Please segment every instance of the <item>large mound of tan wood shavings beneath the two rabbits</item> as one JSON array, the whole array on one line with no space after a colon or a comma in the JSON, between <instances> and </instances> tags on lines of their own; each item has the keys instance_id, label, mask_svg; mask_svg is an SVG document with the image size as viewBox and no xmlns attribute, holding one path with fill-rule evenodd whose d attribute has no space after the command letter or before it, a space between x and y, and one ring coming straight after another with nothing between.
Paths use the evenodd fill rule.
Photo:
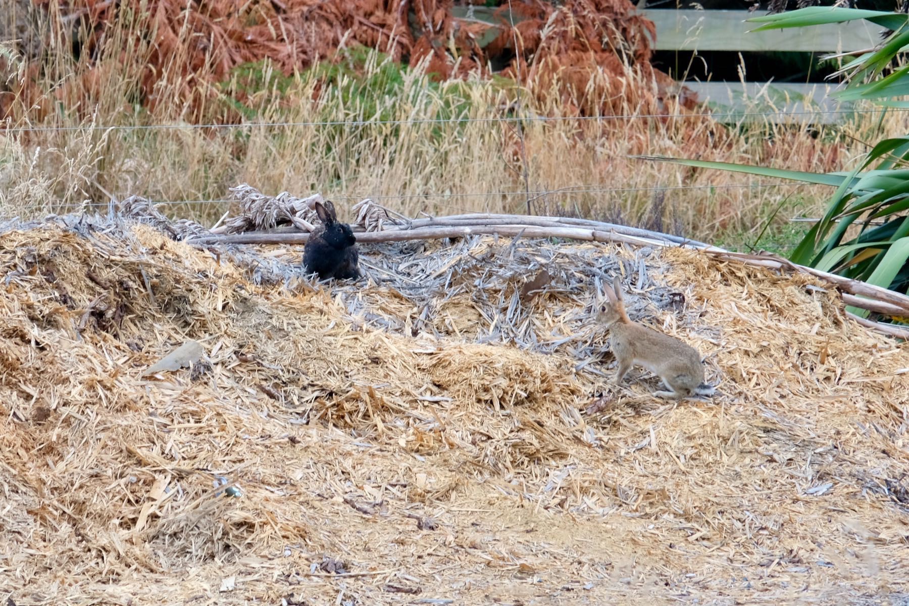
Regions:
<instances>
[{"instance_id":1,"label":"large mound of tan wood shavings beneath the two rabbits","mask_svg":"<svg viewBox=\"0 0 909 606\"><path fill-rule=\"evenodd\" d=\"M368 283L308 283L299 257L101 218L5 225L0 599L906 591L909 356L824 284L493 238L364 247ZM704 353L714 401L654 400L639 370L612 385L591 303L616 274L632 317ZM189 341L198 363L141 376Z\"/></svg>"}]
</instances>

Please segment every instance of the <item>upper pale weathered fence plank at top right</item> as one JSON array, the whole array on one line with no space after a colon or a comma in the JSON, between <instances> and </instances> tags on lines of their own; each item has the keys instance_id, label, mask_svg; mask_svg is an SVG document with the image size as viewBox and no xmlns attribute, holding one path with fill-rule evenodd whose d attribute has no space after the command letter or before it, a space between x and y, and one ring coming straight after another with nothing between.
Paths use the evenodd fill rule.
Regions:
<instances>
[{"instance_id":1,"label":"upper pale weathered fence plank at top right","mask_svg":"<svg viewBox=\"0 0 909 606\"><path fill-rule=\"evenodd\" d=\"M750 32L760 24L746 23L748 11L644 9L656 25L659 51L858 51L880 40L879 25L866 21Z\"/></svg>"}]
</instances>

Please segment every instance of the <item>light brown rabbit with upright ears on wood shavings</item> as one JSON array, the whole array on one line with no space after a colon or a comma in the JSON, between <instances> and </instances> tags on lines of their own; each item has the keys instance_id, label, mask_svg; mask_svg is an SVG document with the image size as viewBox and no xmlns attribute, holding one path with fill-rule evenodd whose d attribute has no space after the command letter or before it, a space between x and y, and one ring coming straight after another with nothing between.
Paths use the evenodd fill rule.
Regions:
<instances>
[{"instance_id":1,"label":"light brown rabbit with upright ears on wood shavings","mask_svg":"<svg viewBox=\"0 0 909 606\"><path fill-rule=\"evenodd\" d=\"M632 322L624 310L621 286L606 286L605 293L597 319L609 328L609 346L618 363L616 384L636 364L659 376L670 390L654 392L657 397L682 400L714 394L714 386L704 383L704 365L694 347Z\"/></svg>"}]
</instances>

